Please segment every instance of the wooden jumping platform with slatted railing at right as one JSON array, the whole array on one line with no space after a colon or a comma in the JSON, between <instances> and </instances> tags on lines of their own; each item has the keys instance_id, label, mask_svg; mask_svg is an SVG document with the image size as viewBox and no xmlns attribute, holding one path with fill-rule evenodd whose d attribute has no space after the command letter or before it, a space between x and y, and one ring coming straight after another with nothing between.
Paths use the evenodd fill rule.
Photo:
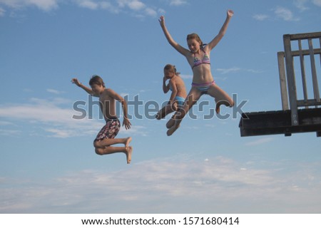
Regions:
<instances>
[{"instance_id":1,"label":"wooden jumping platform with slatted railing at right","mask_svg":"<svg viewBox=\"0 0 321 228\"><path fill-rule=\"evenodd\" d=\"M321 32L286 34L283 36L283 44L285 51L277 53L282 110L242 113L239 124L242 137L275 134L290 136L293 133L311 132L321 137L318 83L321 72ZM297 50L292 51L293 46L297 47ZM305 46L307 48L304 48ZM320 60L320 64L316 64L316 59ZM309 63L308 66L306 63ZM295 66L300 69L295 71ZM310 71L306 68L310 68ZM299 79L302 95L297 94L297 72L301 76Z\"/></svg>"}]
</instances>

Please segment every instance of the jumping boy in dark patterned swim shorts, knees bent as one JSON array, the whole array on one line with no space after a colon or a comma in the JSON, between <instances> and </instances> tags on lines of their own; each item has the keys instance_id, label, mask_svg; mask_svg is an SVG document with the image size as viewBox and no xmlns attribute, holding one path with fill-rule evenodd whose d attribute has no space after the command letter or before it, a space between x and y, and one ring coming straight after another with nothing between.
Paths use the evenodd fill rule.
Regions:
<instances>
[{"instance_id":1,"label":"jumping boy in dark patterned swim shorts, knees bent","mask_svg":"<svg viewBox=\"0 0 321 228\"><path fill-rule=\"evenodd\" d=\"M108 155L115 152L124 152L127 158L127 164L131 163L131 154L133 147L129 146L131 137L115 138L121 129L121 123L116 115L116 100L121 102L123 107L123 125L126 130L131 128L131 122L127 118L127 103L121 95L118 95L111 88L106 88L103 79L100 76L93 76L89 81L91 88L83 86L77 78L71 80L76 86L82 88L87 93L98 97L101 106L101 112L106 120L106 125L101 128L96 139L93 141L95 152L97 155ZM111 145L123 143L124 147L112 147Z\"/></svg>"}]
</instances>

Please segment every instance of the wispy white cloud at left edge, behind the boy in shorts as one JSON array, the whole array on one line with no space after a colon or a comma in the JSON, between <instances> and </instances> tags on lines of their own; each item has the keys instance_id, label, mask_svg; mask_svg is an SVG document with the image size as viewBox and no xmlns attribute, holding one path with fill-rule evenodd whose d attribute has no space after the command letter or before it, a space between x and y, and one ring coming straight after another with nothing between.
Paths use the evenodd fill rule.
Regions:
<instances>
[{"instance_id":1,"label":"wispy white cloud at left edge, behind the boy in shorts","mask_svg":"<svg viewBox=\"0 0 321 228\"><path fill-rule=\"evenodd\" d=\"M104 124L104 120L96 120L86 117L77 119L74 115L79 116L72 108L71 100L65 98L40 99L31 98L24 104L0 105L1 123L11 123L13 121L28 121L38 127L38 130L44 130L47 136L56 138L69 138L83 135L96 135ZM68 108L64 108L64 106ZM98 109L98 107L97 107ZM84 110L86 111L86 110ZM94 112L94 110L93 110ZM97 110L99 112L99 110ZM7 124L6 128L11 127ZM1 135L17 134L21 129L12 126L10 129L2 130ZM146 130L140 126L133 126L130 131L134 135L144 135Z\"/></svg>"}]
</instances>

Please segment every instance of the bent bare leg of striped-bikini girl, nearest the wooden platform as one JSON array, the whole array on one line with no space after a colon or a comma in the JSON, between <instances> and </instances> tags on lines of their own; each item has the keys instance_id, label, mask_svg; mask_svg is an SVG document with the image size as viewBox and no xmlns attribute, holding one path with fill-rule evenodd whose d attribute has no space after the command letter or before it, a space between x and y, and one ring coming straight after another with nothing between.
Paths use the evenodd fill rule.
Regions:
<instances>
[{"instance_id":1,"label":"bent bare leg of striped-bikini girl, nearest the wooden platform","mask_svg":"<svg viewBox=\"0 0 321 228\"><path fill-rule=\"evenodd\" d=\"M228 107L234 106L234 101L228 93L226 93L223 89L221 89L218 85L214 84L213 86L210 86L208 89L208 95L215 98L215 111L216 113L220 113L220 105L225 105Z\"/></svg>"}]
</instances>

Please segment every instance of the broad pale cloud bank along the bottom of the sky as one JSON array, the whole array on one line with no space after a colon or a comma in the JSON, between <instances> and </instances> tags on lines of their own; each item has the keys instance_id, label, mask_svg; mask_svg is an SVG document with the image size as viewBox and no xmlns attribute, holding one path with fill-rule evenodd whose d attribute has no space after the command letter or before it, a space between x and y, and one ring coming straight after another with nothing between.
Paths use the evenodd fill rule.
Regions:
<instances>
[{"instance_id":1,"label":"broad pale cloud bank along the bottom of the sky","mask_svg":"<svg viewBox=\"0 0 321 228\"><path fill-rule=\"evenodd\" d=\"M285 173L228 157L165 157L130 170L81 170L41 182L2 177L0 212L320 212L320 165L290 165L295 171Z\"/></svg>"}]
</instances>

